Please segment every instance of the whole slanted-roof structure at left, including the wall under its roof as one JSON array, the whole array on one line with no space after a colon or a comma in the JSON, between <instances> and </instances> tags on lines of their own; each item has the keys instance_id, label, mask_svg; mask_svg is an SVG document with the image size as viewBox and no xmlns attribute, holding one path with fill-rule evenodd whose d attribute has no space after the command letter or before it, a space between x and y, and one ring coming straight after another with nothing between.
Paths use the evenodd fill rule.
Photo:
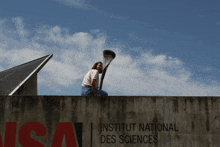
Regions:
<instances>
[{"instance_id":1,"label":"whole slanted-roof structure at left, including the wall under its roof","mask_svg":"<svg viewBox=\"0 0 220 147\"><path fill-rule=\"evenodd\" d=\"M0 72L0 95L37 95L37 73L52 54Z\"/></svg>"}]
</instances>

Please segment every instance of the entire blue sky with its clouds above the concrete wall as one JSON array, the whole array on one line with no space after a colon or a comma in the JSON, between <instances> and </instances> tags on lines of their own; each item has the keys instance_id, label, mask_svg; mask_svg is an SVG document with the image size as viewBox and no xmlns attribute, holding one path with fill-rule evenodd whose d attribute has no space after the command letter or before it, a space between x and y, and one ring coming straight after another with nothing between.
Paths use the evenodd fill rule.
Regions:
<instances>
[{"instance_id":1,"label":"entire blue sky with its clouds above the concrete wall","mask_svg":"<svg viewBox=\"0 0 220 147\"><path fill-rule=\"evenodd\" d=\"M109 95L219 96L219 8L217 0L1 1L0 71L53 54L38 94L80 95L111 49Z\"/></svg>"}]
</instances>

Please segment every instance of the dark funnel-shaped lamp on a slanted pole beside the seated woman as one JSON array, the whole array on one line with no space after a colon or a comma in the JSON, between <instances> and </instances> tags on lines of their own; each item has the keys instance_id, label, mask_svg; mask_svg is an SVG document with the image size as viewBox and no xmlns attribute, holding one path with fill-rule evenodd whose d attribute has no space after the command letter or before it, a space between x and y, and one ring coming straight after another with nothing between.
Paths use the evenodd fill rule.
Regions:
<instances>
[{"instance_id":1,"label":"dark funnel-shaped lamp on a slanted pole beside the seated woman","mask_svg":"<svg viewBox=\"0 0 220 147\"><path fill-rule=\"evenodd\" d=\"M102 89L102 83L103 83L107 68L112 62L112 60L115 58L115 56L116 54L111 50L103 51L103 70L102 70L102 77L101 77L100 88L99 88L100 90Z\"/></svg>"}]
</instances>

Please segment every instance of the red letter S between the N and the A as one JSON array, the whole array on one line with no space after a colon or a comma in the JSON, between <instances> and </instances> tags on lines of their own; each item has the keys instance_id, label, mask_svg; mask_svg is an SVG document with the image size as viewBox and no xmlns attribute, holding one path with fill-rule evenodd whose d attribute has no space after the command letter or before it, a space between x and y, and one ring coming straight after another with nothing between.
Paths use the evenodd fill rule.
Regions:
<instances>
[{"instance_id":1,"label":"red letter S between the N and the A","mask_svg":"<svg viewBox=\"0 0 220 147\"><path fill-rule=\"evenodd\" d=\"M18 134L18 140L23 147L44 147L44 145L30 136L30 131L34 130L37 136L45 136L46 128L39 122L29 122L24 124Z\"/></svg>"}]
</instances>

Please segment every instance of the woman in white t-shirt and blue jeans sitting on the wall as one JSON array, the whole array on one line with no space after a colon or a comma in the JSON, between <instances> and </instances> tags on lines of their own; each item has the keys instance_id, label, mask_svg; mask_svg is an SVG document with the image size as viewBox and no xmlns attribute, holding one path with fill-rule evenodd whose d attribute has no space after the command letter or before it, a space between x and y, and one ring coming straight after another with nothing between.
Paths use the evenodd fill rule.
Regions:
<instances>
[{"instance_id":1,"label":"woman in white t-shirt and blue jeans sitting on the wall","mask_svg":"<svg viewBox=\"0 0 220 147\"><path fill-rule=\"evenodd\" d=\"M96 62L92 69L86 74L82 82L82 96L94 95L94 96L108 96L108 93L99 90L99 73L102 73L102 62Z\"/></svg>"}]
</instances>

